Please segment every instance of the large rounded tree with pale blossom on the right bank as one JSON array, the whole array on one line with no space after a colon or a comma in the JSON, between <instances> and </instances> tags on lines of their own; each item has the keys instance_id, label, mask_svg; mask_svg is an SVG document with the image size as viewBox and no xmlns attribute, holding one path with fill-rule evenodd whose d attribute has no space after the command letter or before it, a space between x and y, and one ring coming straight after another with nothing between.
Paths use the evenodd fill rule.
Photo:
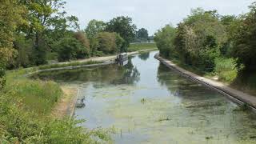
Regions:
<instances>
[{"instance_id":1,"label":"large rounded tree with pale blossom on the right bank","mask_svg":"<svg viewBox=\"0 0 256 144\"><path fill-rule=\"evenodd\" d=\"M192 10L188 18L178 25L174 40L179 58L202 71L214 70L214 59L219 48L227 41L226 27L216 10Z\"/></svg>"}]
</instances>

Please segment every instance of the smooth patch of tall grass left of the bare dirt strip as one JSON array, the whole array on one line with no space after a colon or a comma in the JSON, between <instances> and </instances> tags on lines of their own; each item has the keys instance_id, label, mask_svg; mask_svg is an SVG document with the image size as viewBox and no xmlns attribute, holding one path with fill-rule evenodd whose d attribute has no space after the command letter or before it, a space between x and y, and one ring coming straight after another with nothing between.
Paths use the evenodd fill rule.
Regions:
<instances>
[{"instance_id":1,"label":"smooth patch of tall grass left of the bare dirt strip","mask_svg":"<svg viewBox=\"0 0 256 144\"><path fill-rule=\"evenodd\" d=\"M62 90L55 82L20 79L8 87L15 91L15 98L21 99L22 107L36 114L50 114L62 96Z\"/></svg>"}]
</instances>

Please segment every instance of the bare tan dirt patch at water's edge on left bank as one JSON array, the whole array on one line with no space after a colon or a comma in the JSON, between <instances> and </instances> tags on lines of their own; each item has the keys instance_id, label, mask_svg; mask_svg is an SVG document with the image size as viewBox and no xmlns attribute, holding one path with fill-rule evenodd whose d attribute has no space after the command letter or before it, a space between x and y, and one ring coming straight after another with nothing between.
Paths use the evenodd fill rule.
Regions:
<instances>
[{"instance_id":1,"label":"bare tan dirt patch at water's edge on left bank","mask_svg":"<svg viewBox=\"0 0 256 144\"><path fill-rule=\"evenodd\" d=\"M63 96L55 106L52 115L56 118L62 118L64 116L73 116L75 102L78 95L78 88L74 86L61 86Z\"/></svg>"}]
</instances>

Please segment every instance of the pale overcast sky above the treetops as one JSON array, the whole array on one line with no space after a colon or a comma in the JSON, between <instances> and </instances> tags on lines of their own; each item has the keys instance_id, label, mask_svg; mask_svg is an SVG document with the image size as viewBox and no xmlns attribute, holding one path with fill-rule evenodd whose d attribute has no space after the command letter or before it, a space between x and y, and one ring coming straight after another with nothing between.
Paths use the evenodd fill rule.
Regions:
<instances>
[{"instance_id":1,"label":"pale overcast sky above the treetops","mask_svg":"<svg viewBox=\"0 0 256 144\"><path fill-rule=\"evenodd\" d=\"M242 14L255 0L66 0L66 11L79 18L84 29L91 19L109 21L117 16L133 18L138 28L145 27L150 34L172 23L174 26L202 7L218 10L219 14Z\"/></svg>"}]
</instances>

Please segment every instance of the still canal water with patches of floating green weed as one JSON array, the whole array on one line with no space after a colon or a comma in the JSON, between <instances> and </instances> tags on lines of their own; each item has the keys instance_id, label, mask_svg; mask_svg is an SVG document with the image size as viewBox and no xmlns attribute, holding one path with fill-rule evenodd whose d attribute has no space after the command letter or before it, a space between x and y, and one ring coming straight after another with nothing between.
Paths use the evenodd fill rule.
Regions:
<instances>
[{"instance_id":1,"label":"still canal water with patches of floating green weed","mask_svg":"<svg viewBox=\"0 0 256 144\"><path fill-rule=\"evenodd\" d=\"M75 110L86 128L113 131L114 143L255 143L256 116L222 94L137 54L126 66L38 74L79 87L86 106Z\"/></svg>"}]
</instances>

